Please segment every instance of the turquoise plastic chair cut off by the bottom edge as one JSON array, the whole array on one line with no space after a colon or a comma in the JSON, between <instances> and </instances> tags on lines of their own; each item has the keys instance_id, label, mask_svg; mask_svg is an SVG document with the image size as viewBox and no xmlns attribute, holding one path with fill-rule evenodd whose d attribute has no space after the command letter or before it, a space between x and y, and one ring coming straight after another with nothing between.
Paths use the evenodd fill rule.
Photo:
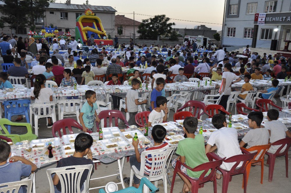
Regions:
<instances>
[{"instance_id":1,"label":"turquoise plastic chair cut off by the bottom edge","mask_svg":"<svg viewBox=\"0 0 291 193\"><path fill-rule=\"evenodd\" d=\"M155 187L147 178L141 178L141 184L139 185L139 188L135 188L131 186L123 190L118 190L115 193L142 193L143 185L146 185L152 191L149 193L155 193L157 190L159 190L159 188ZM106 193L106 192L103 189L100 189L99 193Z\"/></svg>"}]
</instances>

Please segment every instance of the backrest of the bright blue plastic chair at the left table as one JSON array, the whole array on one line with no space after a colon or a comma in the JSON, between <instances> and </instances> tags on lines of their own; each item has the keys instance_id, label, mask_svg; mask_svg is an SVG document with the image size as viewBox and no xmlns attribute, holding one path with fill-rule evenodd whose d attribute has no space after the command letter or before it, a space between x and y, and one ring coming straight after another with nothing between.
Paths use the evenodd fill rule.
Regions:
<instances>
[{"instance_id":1,"label":"backrest of the bright blue plastic chair at the left table","mask_svg":"<svg viewBox=\"0 0 291 193\"><path fill-rule=\"evenodd\" d=\"M22 100L9 100L4 101L4 111L5 115L7 115L7 112L12 114L20 114L28 110L30 104L30 100L22 99Z\"/></svg>"}]
</instances>

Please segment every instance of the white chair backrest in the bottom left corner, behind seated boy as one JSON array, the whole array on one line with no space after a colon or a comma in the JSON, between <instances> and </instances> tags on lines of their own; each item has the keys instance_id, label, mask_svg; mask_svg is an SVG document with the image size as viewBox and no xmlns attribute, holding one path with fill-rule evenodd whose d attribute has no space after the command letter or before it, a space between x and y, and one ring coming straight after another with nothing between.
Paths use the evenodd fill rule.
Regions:
<instances>
[{"instance_id":1,"label":"white chair backrest in the bottom left corner, behind seated boy","mask_svg":"<svg viewBox=\"0 0 291 193\"><path fill-rule=\"evenodd\" d=\"M52 177L51 177L52 178ZM16 182L8 182L8 183L2 183L0 184L0 192L2 193L12 193L12 192L18 192L21 186L27 186L27 192L31 192L32 188L32 180L21 180Z\"/></svg>"}]
</instances>

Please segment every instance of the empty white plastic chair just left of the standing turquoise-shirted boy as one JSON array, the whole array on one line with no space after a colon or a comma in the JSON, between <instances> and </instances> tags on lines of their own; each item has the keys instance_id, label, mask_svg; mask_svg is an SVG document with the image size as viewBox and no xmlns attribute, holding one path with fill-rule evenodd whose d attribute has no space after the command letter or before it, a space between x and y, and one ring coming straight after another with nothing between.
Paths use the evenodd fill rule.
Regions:
<instances>
[{"instance_id":1,"label":"empty white plastic chair just left of the standing turquoise-shirted boy","mask_svg":"<svg viewBox=\"0 0 291 193\"><path fill-rule=\"evenodd\" d=\"M80 123L79 109L82 108L82 101L80 99L62 99L58 100L56 103L58 105L58 120L62 120L64 115L68 115L65 117L77 116L77 121Z\"/></svg>"}]
</instances>

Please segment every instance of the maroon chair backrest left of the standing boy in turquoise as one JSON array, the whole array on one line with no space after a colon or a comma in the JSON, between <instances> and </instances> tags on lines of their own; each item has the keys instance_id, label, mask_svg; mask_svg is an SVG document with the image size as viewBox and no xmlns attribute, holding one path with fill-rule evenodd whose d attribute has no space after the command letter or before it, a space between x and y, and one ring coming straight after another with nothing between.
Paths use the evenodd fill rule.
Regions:
<instances>
[{"instance_id":1,"label":"maroon chair backrest left of the standing boy in turquoise","mask_svg":"<svg viewBox=\"0 0 291 193\"><path fill-rule=\"evenodd\" d=\"M62 119L54 122L53 127L52 127L52 135L53 137L60 137L62 138L63 135L67 135L67 130L70 134L74 134L72 127L78 128L81 131L83 131L83 127L75 120L75 119ZM62 131L63 133L62 133ZM58 136L56 135L58 133Z\"/></svg>"}]
</instances>

